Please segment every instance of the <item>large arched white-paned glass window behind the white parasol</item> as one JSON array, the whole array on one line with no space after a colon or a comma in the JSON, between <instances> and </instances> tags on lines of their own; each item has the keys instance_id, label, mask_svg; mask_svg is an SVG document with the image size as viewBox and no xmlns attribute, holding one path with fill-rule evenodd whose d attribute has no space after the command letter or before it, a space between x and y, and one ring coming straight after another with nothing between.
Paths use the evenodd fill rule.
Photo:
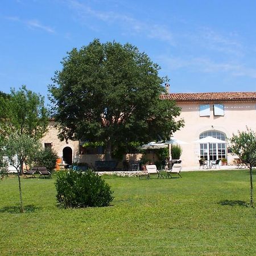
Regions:
<instances>
[{"instance_id":1,"label":"large arched white-paned glass window behind the white parasol","mask_svg":"<svg viewBox=\"0 0 256 256\"><path fill-rule=\"evenodd\" d=\"M225 141L225 133L221 131L204 131L199 138L213 137ZM226 143L201 143L200 144L200 158L205 160L216 160L226 158Z\"/></svg>"}]
</instances>

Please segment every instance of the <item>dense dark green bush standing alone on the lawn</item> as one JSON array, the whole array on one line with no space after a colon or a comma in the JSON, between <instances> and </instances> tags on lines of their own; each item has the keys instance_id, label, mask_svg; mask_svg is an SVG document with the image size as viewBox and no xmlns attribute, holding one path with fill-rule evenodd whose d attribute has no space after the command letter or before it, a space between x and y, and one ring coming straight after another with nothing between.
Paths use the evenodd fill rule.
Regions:
<instances>
[{"instance_id":1,"label":"dense dark green bush standing alone on the lawn","mask_svg":"<svg viewBox=\"0 0 256 256\"><path fill-rule=\"evenodd\" d=\"M106 207L114 199L109 184L90 170L59 171L55 186L57 201L65 208Z\"/></svg>"}]
</instances>

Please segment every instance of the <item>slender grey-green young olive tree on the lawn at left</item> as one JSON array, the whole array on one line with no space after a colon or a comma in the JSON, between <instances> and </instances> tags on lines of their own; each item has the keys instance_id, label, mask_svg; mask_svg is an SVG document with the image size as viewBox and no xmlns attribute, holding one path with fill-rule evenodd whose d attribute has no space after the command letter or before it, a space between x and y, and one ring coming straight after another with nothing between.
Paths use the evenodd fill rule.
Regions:
<instances>
[{"instance_id":1,"label":"slender grey-green young olive tree on the lawn at left","mask_svg":"<svg viewBox=\"0 0 256 256\"><path fill-rule=\"evenodd\" d=\"M40 142L27 134L11 133L5 140L3 154L7 156L11 166L15 167L18 173L20 212L24 212L20 183L20 176L23 174L23 164L25 160L29 162L30 159L33 159L40 147Z\"/></svg>"}]
</instances>

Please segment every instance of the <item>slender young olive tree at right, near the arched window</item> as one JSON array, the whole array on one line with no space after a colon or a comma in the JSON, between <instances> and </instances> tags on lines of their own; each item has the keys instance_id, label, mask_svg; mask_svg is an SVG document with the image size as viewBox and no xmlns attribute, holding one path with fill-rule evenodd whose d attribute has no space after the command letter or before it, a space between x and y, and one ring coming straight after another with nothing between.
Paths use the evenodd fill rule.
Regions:
<instances>
[{"instance_id":1,"label":"slender young olive tree at right, near the arched window","mask_svg":"<svg viewBox=\"0 0 256 256\"><path fill-rule=\"evenodd\" d=\"M256 134L253 130L247 128L247 131L238 131L230 139L232 152L237 154L240 159L250 168L250 204L253 202L253 167L256 165Z\"/></svg>"}]
</instances>

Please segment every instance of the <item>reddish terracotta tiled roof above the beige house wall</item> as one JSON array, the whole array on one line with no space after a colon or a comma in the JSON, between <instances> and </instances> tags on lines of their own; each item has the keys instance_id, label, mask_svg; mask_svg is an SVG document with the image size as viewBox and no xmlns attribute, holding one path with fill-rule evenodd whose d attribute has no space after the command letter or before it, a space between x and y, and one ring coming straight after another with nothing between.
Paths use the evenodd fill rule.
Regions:
<instances>
[{"instance_id":1,"label":"reddish terracotta tiled roof above the beige house wall","mask_svg":"<svg viewBox=\"0 0 256 256\"><path fill-rule=\"evenodd\" d=\"M256 92L168 93L161 94L160 99L175 101L246 101L256 100Z\"/></svg>"}]
</instances>

